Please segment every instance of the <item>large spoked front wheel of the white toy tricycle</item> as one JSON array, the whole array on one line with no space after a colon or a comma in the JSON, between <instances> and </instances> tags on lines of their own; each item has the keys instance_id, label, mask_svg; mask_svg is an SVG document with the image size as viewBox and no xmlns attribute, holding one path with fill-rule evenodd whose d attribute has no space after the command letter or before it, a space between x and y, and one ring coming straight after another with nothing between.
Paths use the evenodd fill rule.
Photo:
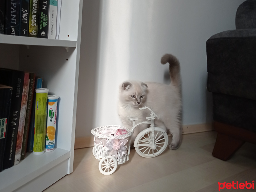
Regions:
<instances>
[{"instance_id":1,"label":"large spoked front wheel of the white toy tricycle","mask_svg":"<svg viewBox=\"0 0 256 192\"><path fill-rule=\"evenodd\" d=\"M168 145L167 133L158 127L155 127L155 145L152 142L152 129L147 128L140 132L134 141L136 152L146 158L160 155Z\"/></svg>"}]
</instances>

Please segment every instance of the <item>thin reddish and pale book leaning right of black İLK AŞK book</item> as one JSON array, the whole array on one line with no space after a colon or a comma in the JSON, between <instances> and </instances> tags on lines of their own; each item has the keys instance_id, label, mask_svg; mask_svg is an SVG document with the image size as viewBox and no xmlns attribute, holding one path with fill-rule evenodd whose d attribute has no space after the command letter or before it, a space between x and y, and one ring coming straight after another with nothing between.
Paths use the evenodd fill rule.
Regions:
<instances>
[{"instance_id":1,"label":"thin reddish and pale book leaning right of black \u0130LK A\u015eK book","mask_svg":"<svg viewBox=\"0 0 256 192\"><path fill-rule=\"evenodd\" d=\"M23 89L22 89L22 100L21 100L21 106L20 106L20 120L19 120L19 127L18 127L18 133L17 133L14 165L17 165L20 163L21 146L22 146L22 141L23 141L26 109L27 109L27 102L28 102L28 87L29 87L29 72L25 72Z\"/></svg>"}]
</instances>

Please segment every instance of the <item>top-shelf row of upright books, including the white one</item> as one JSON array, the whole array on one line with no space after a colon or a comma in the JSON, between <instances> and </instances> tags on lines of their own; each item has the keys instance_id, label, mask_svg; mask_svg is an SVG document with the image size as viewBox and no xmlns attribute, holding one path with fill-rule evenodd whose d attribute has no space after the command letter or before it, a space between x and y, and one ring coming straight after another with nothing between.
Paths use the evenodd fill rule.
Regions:
<instances>
[{"instance_id":1,"label":"top-shelf row of upright books, including the white one","mask_svg":"<svg viewBox=\"0 0 256 192\"><path fill-rule=\"evenodd\" d=\"M60 9L61 0L1 0L0 34L58 39Z\"/></svg>"}]
</instances>

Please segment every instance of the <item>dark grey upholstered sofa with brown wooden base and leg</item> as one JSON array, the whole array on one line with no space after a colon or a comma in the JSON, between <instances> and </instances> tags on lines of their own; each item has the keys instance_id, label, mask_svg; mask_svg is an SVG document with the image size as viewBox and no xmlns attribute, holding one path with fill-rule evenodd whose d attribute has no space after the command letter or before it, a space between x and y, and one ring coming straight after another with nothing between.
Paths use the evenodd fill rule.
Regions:
<instances>
[{"instance_id":1,"label":"dark grey upholstered sofa with brown wooden base and leg","mask_svg":"<svg viewBox=\"0 0 256 192\"><path fill-rule=\"evenodd\" d=\"M244 142L256 144L256 0L237 8L236 30L211 36L206 52L218 132L212 155L228 160Z\"/></svg>"}]
</instances>

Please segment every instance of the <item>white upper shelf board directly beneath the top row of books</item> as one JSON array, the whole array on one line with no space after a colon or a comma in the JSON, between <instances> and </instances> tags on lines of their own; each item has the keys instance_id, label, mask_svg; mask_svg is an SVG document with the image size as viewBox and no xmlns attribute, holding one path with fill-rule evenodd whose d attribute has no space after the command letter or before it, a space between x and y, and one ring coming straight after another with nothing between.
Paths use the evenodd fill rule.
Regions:
<instances>
[{"instance_id":1,"label":"white upper shelf board directly beneath the top row of books","mask_svg":"<svg viewBox=\"0 0 256 192\"><path fill-rule=\"evenodd\" d=\"M0 34L0 43L36 46L76 47L77 42L69 40L43 39Z\"/></svg>"}]
</instances>

